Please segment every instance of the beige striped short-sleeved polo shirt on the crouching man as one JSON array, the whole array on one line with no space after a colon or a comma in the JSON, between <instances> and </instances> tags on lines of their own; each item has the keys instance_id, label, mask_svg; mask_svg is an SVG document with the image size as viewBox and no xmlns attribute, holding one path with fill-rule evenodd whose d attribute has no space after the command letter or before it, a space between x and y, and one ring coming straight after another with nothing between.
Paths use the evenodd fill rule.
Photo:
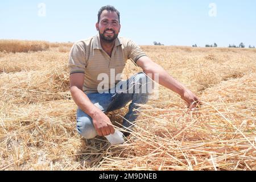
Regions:
<instances>
[{"instance_id":1,"label":"beige striped short-sleeved polo shirt on the crouching man","mask_svg":"<svg viewBox=\"0 0 256 182\"><path fill-rule=\"evenodd\" d=\"M115 80L119 73L122 73L128 59L136 61L146 54L132 40L119 37L115 39L115 45L110 57L104 51L100 43L100 35L76 42L69 53L69 73L84 73L83 91L88 93L106 92L112 89L119 81ZM110 75L111 73L111 75ZM103 79L108 77L109 79ZM111 81L114 77L114 82ZM106 88L98 85L102 82Z\"/></svg>"}]
</instances>

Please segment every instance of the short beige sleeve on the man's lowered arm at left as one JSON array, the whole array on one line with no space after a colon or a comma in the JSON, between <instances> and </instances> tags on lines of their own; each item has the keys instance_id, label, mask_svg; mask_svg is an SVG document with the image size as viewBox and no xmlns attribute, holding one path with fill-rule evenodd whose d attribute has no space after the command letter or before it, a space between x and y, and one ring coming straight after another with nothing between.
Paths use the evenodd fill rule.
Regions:
<instances>
[{"instance_id":1,"label":"short beige sleeve on the man's lowered arm at left","mask_svg":"<svg viewBox=\"0 0 256 182\"><path fill-rule=\"evenodd\" d=\"M77 42L69 53L68 70L69 73L84 73L86 67L86 52L82 42Z\"/></svg>"}]
</instances>

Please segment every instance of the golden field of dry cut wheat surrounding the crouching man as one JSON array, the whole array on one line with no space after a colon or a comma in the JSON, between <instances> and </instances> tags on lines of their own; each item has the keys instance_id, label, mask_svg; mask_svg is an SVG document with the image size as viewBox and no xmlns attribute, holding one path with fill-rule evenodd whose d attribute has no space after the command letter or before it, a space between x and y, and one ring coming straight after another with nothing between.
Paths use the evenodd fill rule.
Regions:
<instances>
[{"instance_id":1,"label":"golden field of dry cut wheat surrounding the crouching man","mask_svg":"<svg viewBox=\"0 0 256 182\"><path fill-rule=\"evenodd\" d=\"M0 41L1 170L256 170L256 49L142 46L195 92L189 111L159 86L124 144L76 131L71 43ZM127 62L124 73L140 68ZM108 113L116 127L127 106Z\"/></svg>"}]
</instances>

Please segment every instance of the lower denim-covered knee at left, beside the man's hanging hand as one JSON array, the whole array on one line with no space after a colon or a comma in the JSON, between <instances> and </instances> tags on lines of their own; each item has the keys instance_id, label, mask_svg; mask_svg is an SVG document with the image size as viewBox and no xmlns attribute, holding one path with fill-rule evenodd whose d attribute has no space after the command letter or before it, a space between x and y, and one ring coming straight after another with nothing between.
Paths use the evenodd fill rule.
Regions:
<instances>
[{"instance_id":1,"label":"lower denim-covered knee at left, beside the man's hanging hand","mask_svg":"<svg viewBox=\"0 0 256 182\"><path fill-rule=\"evenodd\" d=\"M77 131L85 139L92 139L97 136L97 132L93 126L92 118L89 116L77 118Z\"/></svg>"}]
</instances>

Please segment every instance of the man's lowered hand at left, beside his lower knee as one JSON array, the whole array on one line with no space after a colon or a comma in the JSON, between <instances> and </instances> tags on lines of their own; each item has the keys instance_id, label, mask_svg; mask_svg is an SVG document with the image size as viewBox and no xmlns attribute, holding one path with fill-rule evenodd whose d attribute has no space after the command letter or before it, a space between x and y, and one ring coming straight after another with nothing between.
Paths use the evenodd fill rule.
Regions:
<instances>
[{"instance_id":1,"label":"man's lowered hand at left, beside his lower knee","mask_svg":"<svg viewBox=\"0 0 256 182\"><path fill-rule=\"evenodd\" d=\"M106 136L115 133L115 129L112 126L112 122L109 117L102 111L99 111L92 116L93 125L100 136Z\"/></svg>"}]
</instances>

